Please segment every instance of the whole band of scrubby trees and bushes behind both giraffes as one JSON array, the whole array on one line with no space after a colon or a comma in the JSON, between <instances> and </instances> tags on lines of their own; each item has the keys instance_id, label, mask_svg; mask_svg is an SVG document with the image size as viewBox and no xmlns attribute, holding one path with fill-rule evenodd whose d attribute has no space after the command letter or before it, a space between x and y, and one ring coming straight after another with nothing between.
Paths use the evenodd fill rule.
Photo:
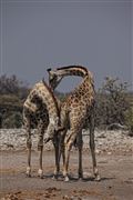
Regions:
<instances>
[{"instance_id":1,"label":"whole band of scrubby trees and bushes behind both giraffes","mask_svg":"<svg viewBox=\"0 0 133 200\"><path fill-rule=\"evenodd\" d=\"M22 124L22 106L29 93L27 83L17 76L0 77L0 128L19 128ZM55 96L64 101L69 93L55 90ZM103 86L96 92L95 126L104 128L112 123L126 124L133 132L133 104L129 98L127 83L117 78L104 79Z\"/></svg>"}]
</instances>

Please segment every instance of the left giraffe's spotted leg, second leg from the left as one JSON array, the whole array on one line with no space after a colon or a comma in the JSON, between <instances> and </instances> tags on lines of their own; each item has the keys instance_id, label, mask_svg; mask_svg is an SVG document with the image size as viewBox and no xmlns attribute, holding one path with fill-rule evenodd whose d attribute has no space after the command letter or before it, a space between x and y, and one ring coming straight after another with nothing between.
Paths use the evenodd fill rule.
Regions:
<instances>
[{"instance_id":1,"label":"left giraffe's spotted leg, second leg from the left","mask_svg":"<svg viewBox=\"0 0 133 200\"><path fill-rule=\"evenodd\" d=\"M42 169L42 153L43 153L43 136L44 136L44 124L43 121L39 122L39 142L38 142L38 151L39 151L39 170L38 176L43 179L43 169Z\"/></svg>"}]
</instances>

